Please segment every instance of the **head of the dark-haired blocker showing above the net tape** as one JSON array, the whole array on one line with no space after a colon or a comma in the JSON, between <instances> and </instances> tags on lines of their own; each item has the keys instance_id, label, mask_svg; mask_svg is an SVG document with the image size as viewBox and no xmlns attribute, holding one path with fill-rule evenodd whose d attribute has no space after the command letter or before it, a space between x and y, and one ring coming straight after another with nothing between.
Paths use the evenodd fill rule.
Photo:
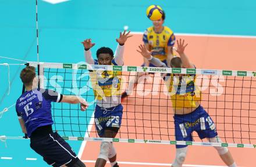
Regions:
<instances>
[{"instance_id":1,"label":"head of the dark-haired blocker showing above the net tape","mask_svg":"<svg viewBox=\"0 0 256 167\"><path fill-rule=\"evenodd\" d=\"M114 55L112 49L101 47L97 50L96 55L100 65L111 65Z\"/></svg>"}]
</instances>

